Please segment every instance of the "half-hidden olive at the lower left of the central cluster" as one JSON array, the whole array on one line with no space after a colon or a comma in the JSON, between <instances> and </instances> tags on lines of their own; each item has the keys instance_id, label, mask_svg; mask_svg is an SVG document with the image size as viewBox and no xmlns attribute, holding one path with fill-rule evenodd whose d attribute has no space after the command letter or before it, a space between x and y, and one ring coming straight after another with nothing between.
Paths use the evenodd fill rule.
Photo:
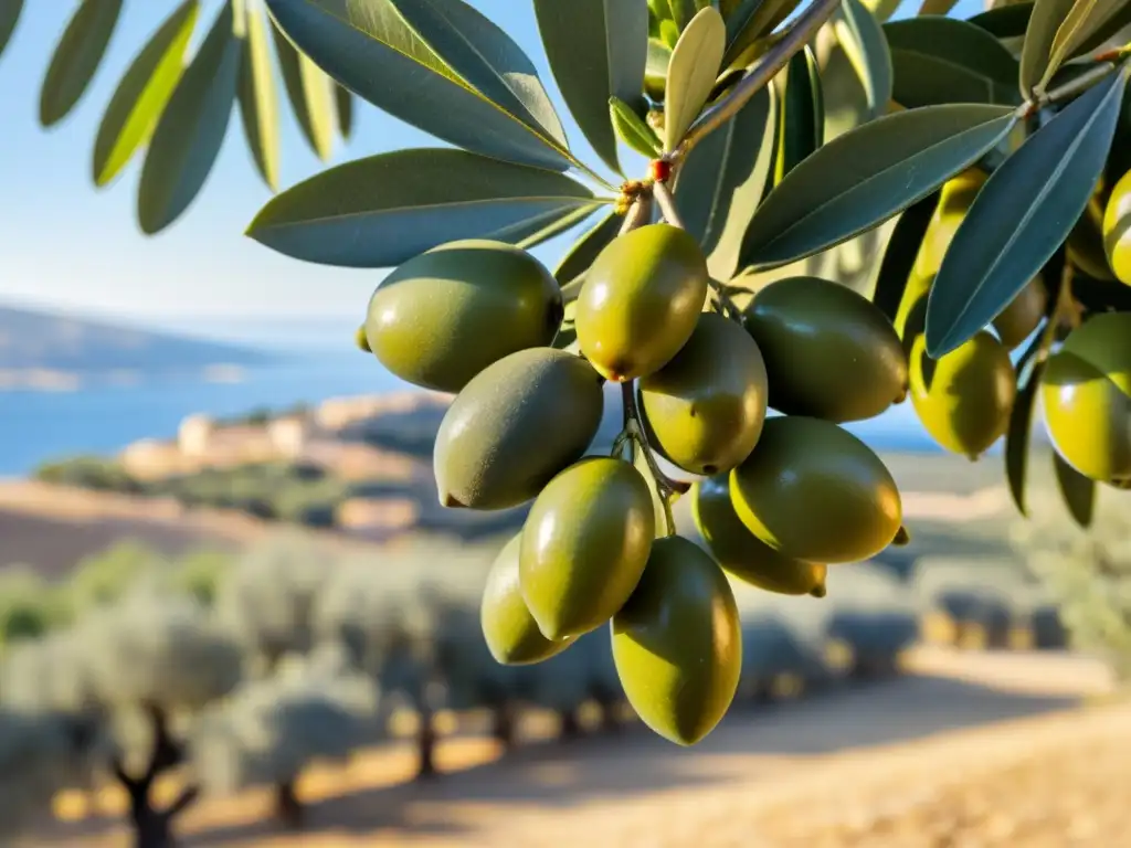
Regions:
<instances>
[{"instance_id":1,"label":"half-hidden olive at the lower left of the central cluster","mask_svg":"<svg viewBox=\"0 0 1131 848\"><path fill-rule=\"evenodd\" d=\"M483 638L495 661L517 666L541 663L561 654L573 639L551 641L542 635L519 588L518 555L521 534L515 536L495 557L487 572L480 607Z\"/></svg>"}]
</instances>

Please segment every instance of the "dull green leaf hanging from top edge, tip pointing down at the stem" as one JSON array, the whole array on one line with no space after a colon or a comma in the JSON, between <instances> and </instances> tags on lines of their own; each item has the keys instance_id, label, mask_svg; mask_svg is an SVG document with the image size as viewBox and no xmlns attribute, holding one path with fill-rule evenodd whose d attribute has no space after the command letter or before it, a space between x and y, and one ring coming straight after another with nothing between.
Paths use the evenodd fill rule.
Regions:
<instances>
[{"instance_id":1,"label":"dull green leaf hanging from top edge, tip pointing down at the stem","mask_svg":"<svg viewBox=\"0 0 1131 848\"><path fill-rule=\"evenodd\" d=\"M542 44L570 113L602 161L620 173L607 103L644 90L648 9L636 0L535 0Z\"/></svg>"}]
</instances>

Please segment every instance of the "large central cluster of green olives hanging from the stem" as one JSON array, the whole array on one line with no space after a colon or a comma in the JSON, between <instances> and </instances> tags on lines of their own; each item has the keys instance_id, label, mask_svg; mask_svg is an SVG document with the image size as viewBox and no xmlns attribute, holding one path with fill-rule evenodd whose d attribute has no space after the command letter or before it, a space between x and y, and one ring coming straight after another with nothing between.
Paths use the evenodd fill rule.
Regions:
<instances>
[{"instance_id":1,"label":"large central cluster of green olives hanging from the stem","mask_svg":"<svg viewBox=\"0 0 1131 848\"><path fill-rule=\"evenodd\" d=\"M740 311L694 237L663 223L614 239L573 306L578 351L559 349L554 277L518 248L456 242L379 285L364 344L400 378L456 393L433 457L441 503L533 501L483 596L492 655L536 663L611 623L629 702L692 744L739 683L726 573L822 597L829 564L901 537L895 481L838 425L906 397L907 360L891 322L828 280L775 282ZM607 382L627 398L625 430L594 455ZM654 494L673 482L650 453L625 458L627 442L698 481L710 553L675 535Z\"/></svg>"}]
</instances>

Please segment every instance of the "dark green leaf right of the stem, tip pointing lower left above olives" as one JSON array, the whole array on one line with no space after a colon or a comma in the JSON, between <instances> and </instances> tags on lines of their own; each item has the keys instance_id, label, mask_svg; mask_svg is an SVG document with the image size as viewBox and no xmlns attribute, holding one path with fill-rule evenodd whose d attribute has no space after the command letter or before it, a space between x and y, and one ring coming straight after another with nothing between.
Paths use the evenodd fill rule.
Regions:
<instances>
[{"instance_id":1,"label":"dark green leaf right of the stem, tip pointing lower left above olives","mask_svg":"<svg viewBox=\"0 0 1131 848\"><path fill-rule=\"evenodd\" d=\"M1002 106L924 106L838 136L759 207L742 265L787 265L871 230L977 162L1016 120Z\"/></svg>"}]
</instances>

